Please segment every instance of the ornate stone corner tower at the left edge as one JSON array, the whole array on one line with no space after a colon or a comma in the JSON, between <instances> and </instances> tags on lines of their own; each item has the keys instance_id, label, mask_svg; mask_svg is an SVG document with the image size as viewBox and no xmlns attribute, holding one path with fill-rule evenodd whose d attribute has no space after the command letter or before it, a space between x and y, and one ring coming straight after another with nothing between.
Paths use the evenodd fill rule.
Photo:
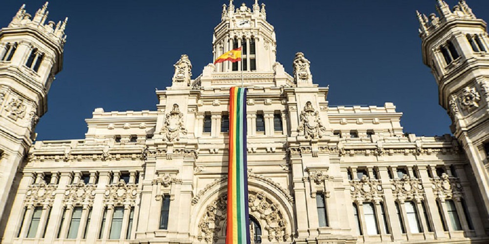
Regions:
<instances>
[{"instance_id":1,"label":"ornate stone corner tower at the left edge","mask_svg":"<svg viewBox=\"0 0 489 244\"><path fill-rule=\"evenodd\" d=\"M0 216L47 111L49 87L63 68L67 19L46 21L47 2L34 16L24 7L0 30Z\"/></svg>"}]
</instances>

